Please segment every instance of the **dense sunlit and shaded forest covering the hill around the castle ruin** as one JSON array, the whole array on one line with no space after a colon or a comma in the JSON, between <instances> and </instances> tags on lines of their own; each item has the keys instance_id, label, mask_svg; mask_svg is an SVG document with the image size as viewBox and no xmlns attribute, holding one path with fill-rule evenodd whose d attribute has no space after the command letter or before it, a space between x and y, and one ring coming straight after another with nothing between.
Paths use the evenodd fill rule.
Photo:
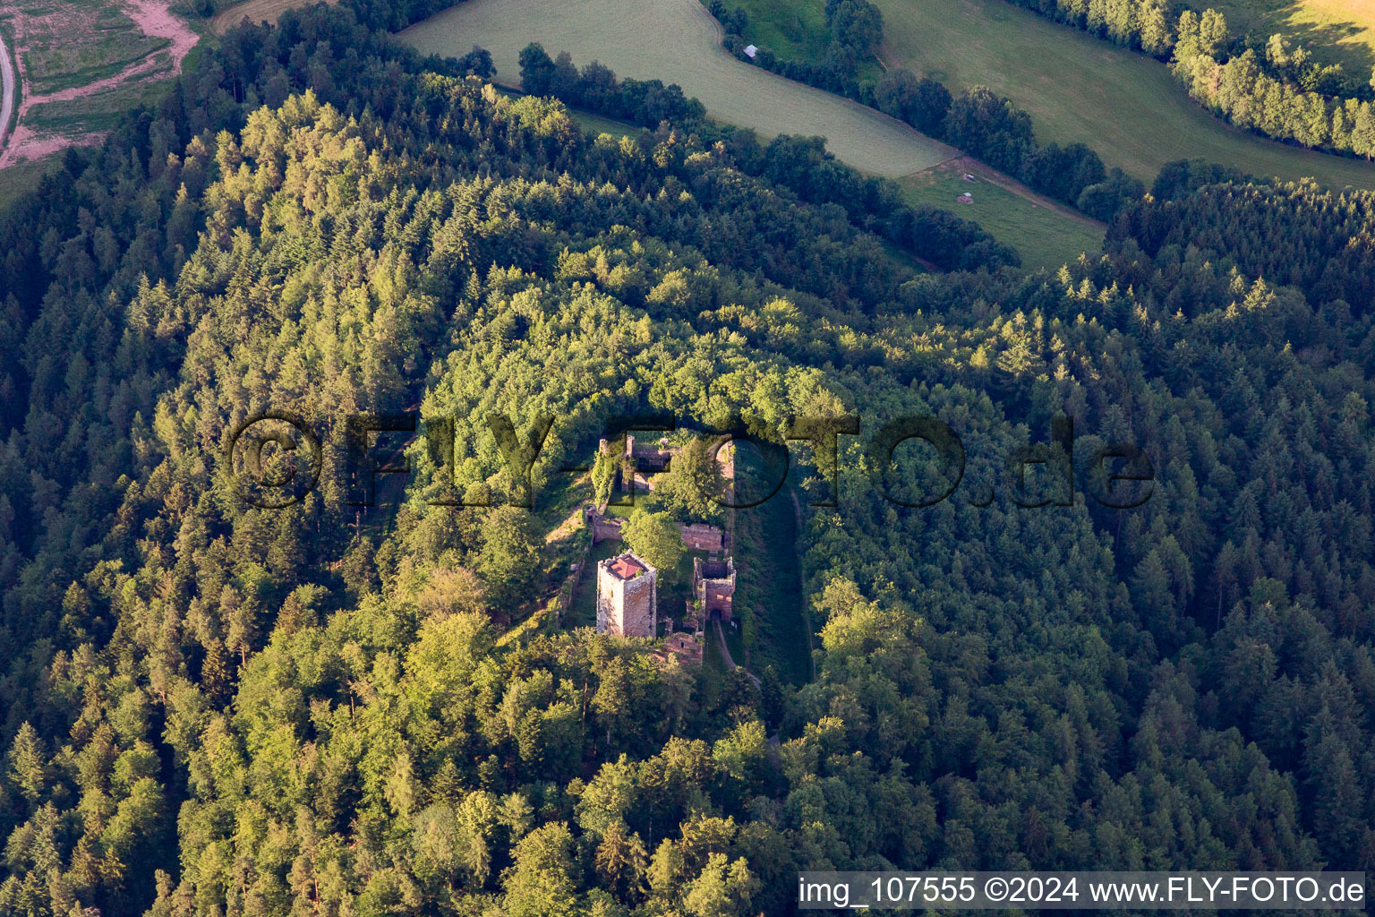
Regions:
<instances>
[{"instance_id":1,"label":"dense sunlit and shaded forest covering the hill around the castle ruin","mask_svg":"<svg viewBox=\"0 0 1375 917\"><path fill-rule=\"evenodd\" d=\"M0 913L715 917L791 913L799 869L1375 865L1368 195L1182 164L1101 256L920 274L781 159L591 137L395 25L234 30L0 217ZM338 439L304 502L246 506L224 437L267 408L454 418L496 506L429 506L418 445L359 514ZM934 414L969 465L906 509L843 437L839 505L803 483L811 678L513 628L564 571L487 415L561 418L549 492L635 410ZM1056 414L1077 459L1141 445L1151 499L1013 505L1000 459Z\"/></svg>"}]
</instances>

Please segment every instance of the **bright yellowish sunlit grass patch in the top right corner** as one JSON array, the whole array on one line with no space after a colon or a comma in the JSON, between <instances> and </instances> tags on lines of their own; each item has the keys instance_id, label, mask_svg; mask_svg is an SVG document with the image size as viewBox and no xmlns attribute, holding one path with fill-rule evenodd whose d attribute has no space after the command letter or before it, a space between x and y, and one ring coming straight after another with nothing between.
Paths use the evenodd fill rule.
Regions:
<instances>
[{"instance_id":1,"label":"bright yellowish sunlit grass patch in the top right corner","mask_svg":"<svg viewBox=\"0 0 1375 917\"><path fill-rule=\"evenodd\" d=\"M1375 3L1371 0L1209 0L1232 32L1261 40L1276 32L1306 45L1324 63L1370 76L1375 67Z\"/></svg>"}]
</instances>

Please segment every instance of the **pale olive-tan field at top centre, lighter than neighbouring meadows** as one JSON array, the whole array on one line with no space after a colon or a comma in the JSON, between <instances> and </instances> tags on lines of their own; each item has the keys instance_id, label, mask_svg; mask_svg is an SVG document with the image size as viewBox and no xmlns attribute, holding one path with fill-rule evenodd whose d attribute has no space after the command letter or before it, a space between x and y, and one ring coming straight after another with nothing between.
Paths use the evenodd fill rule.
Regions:
<instances>
[{"instance_id":1,"label":"pale olive-tan field at top centre, lighter than neighbouring meadows","mask_svg":"<svg viewBox=\"0 0 1375 917\"><path fill-rule=\"evenodd\" d=\"M568 51L579 65L595 59L623 77L676 82L712 117L764 137L825 136L832 153L873 175L909 175L956 155L872 109L736 60L697 0L469 0L402 38L424 54L465 54L480 44L507 84L520 81L520 49L539 41L550 54Z\"/></svg>"}]
</instances>

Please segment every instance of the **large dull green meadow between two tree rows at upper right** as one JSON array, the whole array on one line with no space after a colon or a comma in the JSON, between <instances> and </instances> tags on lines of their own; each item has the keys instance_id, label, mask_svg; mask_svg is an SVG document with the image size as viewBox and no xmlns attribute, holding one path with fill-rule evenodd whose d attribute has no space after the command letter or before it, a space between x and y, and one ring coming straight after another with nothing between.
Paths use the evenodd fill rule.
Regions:
<instances>
[{"instance_id":1,"label":"large dull green meadow between two tree rows at upper right","mask_svg":"<svg viewBox=\"0 0 1375 917\"><path fill-rule=\"evenodd\" d=\"M1371 164L1238 131L1195 104L1163 65L1004 0L876 3L888 65L953 91L991 87L1031 113L1042 143L1081 140L1147 181L1165 162L1203 157L1258 176L1375 188Z\"/></svg>"}]
</instances>

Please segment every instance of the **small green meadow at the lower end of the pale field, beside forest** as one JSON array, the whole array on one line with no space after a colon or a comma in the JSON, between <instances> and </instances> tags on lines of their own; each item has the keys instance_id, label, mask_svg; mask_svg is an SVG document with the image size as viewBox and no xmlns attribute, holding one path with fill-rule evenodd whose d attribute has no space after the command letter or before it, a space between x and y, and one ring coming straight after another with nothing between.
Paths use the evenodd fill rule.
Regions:
<instances>
[{"instance_id":1,"label":"small green meadow at the lower end of the pale field, beside forest","mask_svg":"<svg viewBox=\"0 0 1375 917\"><path fill-rule=\"evenodd\" d=\"M967 170L972 170L979 180L965 181ZM910 203L946 208L974 220L998 242L1020 252L1022 265L1027 269L1053 271L1085 252L1094 253L1103 247L1106 227L1101 223L1055 206L1044 198L1038 202L1013 194L990 181L989 172L969 165L968 159L964 165L945 164L918 172L901 179L898 184ZM974 203L956 203L956 198L967 191L974 195Z\"/></svg>"}]
</instances>

